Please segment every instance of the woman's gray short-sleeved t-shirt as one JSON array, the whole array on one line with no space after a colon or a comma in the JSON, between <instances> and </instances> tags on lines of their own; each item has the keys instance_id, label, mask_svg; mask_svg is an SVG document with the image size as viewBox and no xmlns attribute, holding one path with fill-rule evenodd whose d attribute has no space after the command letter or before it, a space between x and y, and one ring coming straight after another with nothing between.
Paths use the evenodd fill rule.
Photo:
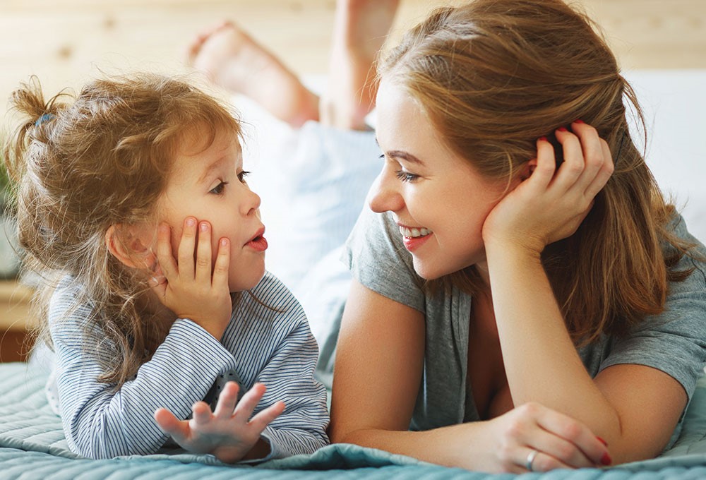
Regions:
<instances>
[{"instance_id":1,"label":"woman's gray short-sleeved t-shirt","mask_svg":"<svg viewBox=\"0 0 706 480\"><path fill-rule=\"evenodd\" d=\"M681 217L675 224L678 236L698 243ZM701 244L698 248L706 255ZM389 212L362 213L347 241L344 260L365 287L426 318L422 385L410 428L428 430L479 420L466 385L471 297L456 288L450 295L423 292L422 279L414 272L412 256ZM646 318L626 337L602 337L579 350L592 377L616 364L651 366L675 378L691 399L706 361L706 266L685 256L676 268L695 270L685 281L670 284L664 313Z\"/></svg>"}]
</instances>

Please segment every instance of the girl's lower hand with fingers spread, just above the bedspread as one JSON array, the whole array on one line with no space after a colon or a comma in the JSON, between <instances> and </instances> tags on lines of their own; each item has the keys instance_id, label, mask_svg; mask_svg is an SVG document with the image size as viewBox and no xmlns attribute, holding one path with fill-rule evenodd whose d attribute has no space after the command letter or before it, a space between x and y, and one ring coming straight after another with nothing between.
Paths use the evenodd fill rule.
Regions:
<instances>
[{"instance_id":1,"label":"girl's lower hand with fingers spread, just above the bedspread","mask_svg":"<svg viewBox=\"0 0 706 480\"><path fill-rule=\"evenodd\" d=\"M191 420L179 420L163 408L155 412L155 420L182 448L210 453L222 462L234 463L243 460L256 446L265 427L285 409L283 402L277 402L250 419L263 395L265 385L256 383L236 405L238 384L228 382L213 414L208 404L196 402L191 408Z\"/></svg>"}]
</instances>

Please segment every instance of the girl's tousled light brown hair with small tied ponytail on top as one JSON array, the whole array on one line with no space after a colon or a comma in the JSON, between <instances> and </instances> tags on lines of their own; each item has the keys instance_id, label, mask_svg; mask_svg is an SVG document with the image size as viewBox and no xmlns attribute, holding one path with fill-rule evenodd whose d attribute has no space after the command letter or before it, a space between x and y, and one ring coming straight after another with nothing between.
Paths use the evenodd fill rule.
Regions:
<instances>
[{"instance_id":1,"label":"girl's tousled light brown hair with small tied ponytail on top","mask_svg":"<svg viewBox=\"0 0 706 480\"><path fill-rule=\"evenodd\" d=\"M95 80L76 97L62 92L48 102L32 78L13 92L11 106L22 121L5 156L16 179L23 264L44 279L34 312L39 336L51 343L48 299L68 275L78 286L74 308L93 312L86 347L115 350L99 355L106 362L100 380L120 386L169 325L145 307L148 275L109 253L106 232L155 222L184 136L210 145L219 131L241 136L239 123L201 90L150 74Z\"/></svg>"}]
</instances>

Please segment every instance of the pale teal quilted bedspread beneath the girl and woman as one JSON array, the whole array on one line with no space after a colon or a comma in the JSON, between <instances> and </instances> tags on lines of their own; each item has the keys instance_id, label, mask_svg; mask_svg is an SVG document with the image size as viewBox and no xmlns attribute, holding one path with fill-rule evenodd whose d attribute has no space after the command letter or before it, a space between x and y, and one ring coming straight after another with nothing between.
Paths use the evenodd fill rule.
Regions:
<instances>
[{"instance_id":1,"label":"pale teal quilted bedspread beneath the girl and woman","mask_svg":"<svg viewBox=\"0 0 706 480\"><path fill-rule=\"evenodd\" d=\"M61 420L44 396L46 373L27 364L0 365L0 479L468 479L505 480L512 474L485 474L439 467L401 455L330 445L313 455L272 460L257 466L226 465L210 455L170 450L155 455L87 460L71 452ZM522 479L651 480L706 479L706 379L698 384L674 448L645 462L608 469L528 473Z\"/></svg>"}]
</instances>

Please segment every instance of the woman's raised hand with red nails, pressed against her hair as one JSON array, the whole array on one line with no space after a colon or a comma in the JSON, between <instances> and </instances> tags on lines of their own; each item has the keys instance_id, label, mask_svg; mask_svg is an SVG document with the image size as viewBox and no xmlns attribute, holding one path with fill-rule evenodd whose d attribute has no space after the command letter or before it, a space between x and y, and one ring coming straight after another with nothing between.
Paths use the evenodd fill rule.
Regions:
<instances>
[{"instance_id":1,"label":"woman's raised hand with red nails, pressed against her hair","mask_svg":"<svg viewBox=\"0 0 706 480\"><path fill-rule=\"evenodd\" d=\"M614 165L608 144L595 128L582 121L571 128L574 133L556 131L564 156L558 171L551 143L537 140L537 168L486 218L486 245L520 246L539 255L545 246L576 232Z\"/></svg>"}]
</instances>

